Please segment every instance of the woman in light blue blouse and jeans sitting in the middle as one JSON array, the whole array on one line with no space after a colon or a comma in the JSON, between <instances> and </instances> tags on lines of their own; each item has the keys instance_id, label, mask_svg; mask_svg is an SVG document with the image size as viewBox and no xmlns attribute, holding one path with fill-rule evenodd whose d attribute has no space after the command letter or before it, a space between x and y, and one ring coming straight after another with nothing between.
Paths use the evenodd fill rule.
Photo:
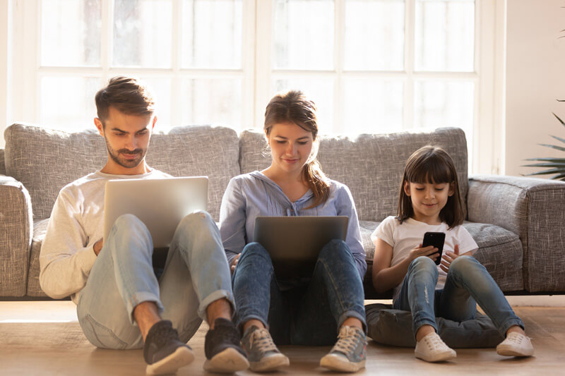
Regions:
<instances>
[{"instance_id":1,"label":"woman in light blue blouse and jeans sitting in the middle","mask_svg":"<svg viewBox=\"0 0 565 376\"><path fill-rule=\"evenodd\" d=\"M270 100L264 131L270 166L232 178L220 209L249 368L262 372L288 365L275 343L328 345L338 339L320 365L355 372L365 363L362 277L367 263L351 193L326 178L316 161L316 107L302 92ZM265 248L250 243L258 215L347 215L347 241L333 240L322 248L311 278L279 279Z\"/></svg>"}]
</instances>

